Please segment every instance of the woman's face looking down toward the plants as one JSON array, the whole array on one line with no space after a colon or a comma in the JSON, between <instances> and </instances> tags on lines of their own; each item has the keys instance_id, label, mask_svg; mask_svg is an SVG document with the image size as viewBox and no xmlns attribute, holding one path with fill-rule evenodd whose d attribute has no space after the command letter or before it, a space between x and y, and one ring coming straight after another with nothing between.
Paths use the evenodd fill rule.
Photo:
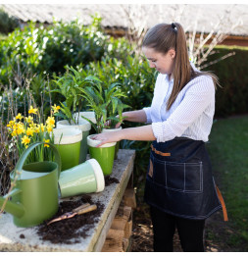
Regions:
<instances>
[{"instance_id":1,"label":"woman's face looking down toward the plants","mask_svg":"<svg viewBox=\"0 0 248 256\"><path fill-rule=\"evenodd\" d=\"M154 48L143 47L142 51L147 58L151 68L156 69L161 74L171 75L174 70L174 49L170 49L166 54L156 52Z\"/></svg>"}]
</instances>

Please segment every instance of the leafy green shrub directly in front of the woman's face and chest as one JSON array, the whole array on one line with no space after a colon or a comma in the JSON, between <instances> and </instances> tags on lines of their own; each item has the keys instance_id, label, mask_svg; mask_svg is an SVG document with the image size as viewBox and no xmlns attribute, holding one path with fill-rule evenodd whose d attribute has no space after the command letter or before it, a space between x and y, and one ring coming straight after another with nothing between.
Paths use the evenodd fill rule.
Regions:
<instances>
[{"instance_id":1,"label":"leafy green shrub directly in front of the woman's face and chest","mask_svg":"<svg viewBox=\"0 0 248 256\"><path fill-rule=\"evenodd\" d=\"M127 96L124 103L133 110L139 110L151 105L153 89L157 73L148 62L139 56L126 56L124 60L104 58L101 62L90 63L89 74L97 74L103 86L118 81Z\"/></svg>"}]
</instances>

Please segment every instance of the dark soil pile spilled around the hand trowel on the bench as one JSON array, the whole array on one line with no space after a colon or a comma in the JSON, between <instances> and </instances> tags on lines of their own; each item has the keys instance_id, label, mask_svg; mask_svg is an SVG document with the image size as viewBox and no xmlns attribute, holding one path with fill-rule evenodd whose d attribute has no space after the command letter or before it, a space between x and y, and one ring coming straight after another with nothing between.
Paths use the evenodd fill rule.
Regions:
<instances>
[{"instance_id":1,"label":"dark soil pile spilled around the hand trowel on the bench","mask_svg":"<svg viewBox=\"0 0 248 256\"><path fill-rule=\"evenodd\" d=\"M97 209L86 214L75 215L72 219L55 222L47 226L47 223L50 220L67 212L71 212L74 208L85 203L96 204ZM87 231L100 221L103 209L104 205L100 202L93 202L89 195L83 195L77 201L61 202L57 214L50 220L47 220L42 225L38 226L37 233L42 240L48 240L52 243L77 243L79 242L79 237L85 238L87 236Z\"/></svg>"}]
</instances>

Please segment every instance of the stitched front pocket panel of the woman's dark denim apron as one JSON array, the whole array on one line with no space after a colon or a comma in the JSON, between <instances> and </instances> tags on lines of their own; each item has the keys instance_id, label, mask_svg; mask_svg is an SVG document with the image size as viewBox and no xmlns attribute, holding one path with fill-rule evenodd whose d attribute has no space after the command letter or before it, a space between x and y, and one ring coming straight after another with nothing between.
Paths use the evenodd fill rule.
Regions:
<instances>
[{"instance_id":1,"label":"stitched front pocket panel of the woman's dark denim apron","mask_svg":"<svg viewBox=\"0 0 248 256\"><path fill-rule=\"evenodd\" d=\"M202 163L174 163L151 158L153 181L167 189L194 193L202 192Z\"/></svg>"}]
</instances>

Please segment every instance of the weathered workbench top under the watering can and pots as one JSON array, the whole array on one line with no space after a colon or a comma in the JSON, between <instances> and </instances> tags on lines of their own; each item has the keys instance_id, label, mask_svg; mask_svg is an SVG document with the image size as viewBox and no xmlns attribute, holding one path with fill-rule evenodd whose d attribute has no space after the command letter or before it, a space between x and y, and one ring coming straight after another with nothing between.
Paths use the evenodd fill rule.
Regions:
<instances>
[{"instance_id":1,"label":"weathered workbench top under the watering can and pots","mask_svg":"<svg viewBox=\"0 0 248 256\"><path fill-rule=\"evenodd\" d=\"M0 216L0 251L101 251L131 177L134 157L134 150L120 149L111 175L120 180L120 183L112 183L106 186L104 191L90 194L92 201L100 200L104 204L104 210L94 227L87 231L87 237L79 237L80 242L53 244L50 241L41 240L37 234L37 227L18 228L14 225L10 214L2 214ZM24 234L25 239L20 237L21 233Z\"/></svg>"}]
</instances>

